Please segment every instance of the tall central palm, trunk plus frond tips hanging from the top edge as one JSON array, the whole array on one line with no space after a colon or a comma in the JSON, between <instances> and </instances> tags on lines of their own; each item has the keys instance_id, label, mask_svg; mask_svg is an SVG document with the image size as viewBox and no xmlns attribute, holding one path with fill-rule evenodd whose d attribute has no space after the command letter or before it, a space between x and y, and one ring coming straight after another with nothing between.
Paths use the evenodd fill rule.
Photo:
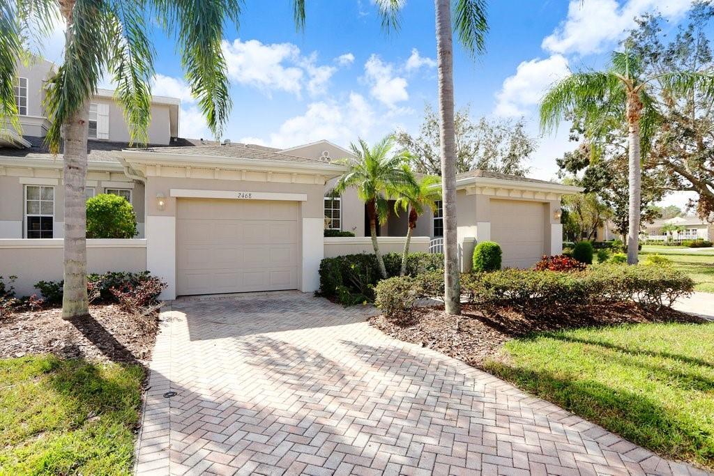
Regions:
<instances>
[{"instance_id":1,"label":"tall central palm, trunk plus frond tips hanging from the top edge","mask_svg":"<svg viewBox=\"0 0 714 476\"><path fill-rule=\"evenodd\" d=\"M376 0L385 29L398 29L404 0ZM444 222L445 310L461 314L458 243L456 238L456 127L453 117L453 30L451 0L434 0L436 9L436 61L441 121L441 178ZM472 56L485 51L486 0L455 0L453 29Z\"/></svg>"}]
</instances>

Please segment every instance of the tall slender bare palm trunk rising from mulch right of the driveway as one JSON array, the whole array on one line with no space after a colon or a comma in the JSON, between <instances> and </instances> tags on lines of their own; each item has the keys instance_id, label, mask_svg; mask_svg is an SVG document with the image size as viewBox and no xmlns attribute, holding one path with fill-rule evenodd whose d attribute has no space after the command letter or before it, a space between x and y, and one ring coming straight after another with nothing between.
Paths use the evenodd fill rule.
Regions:
<instances>
[{"instance_id":1,"label":"tall slender bare palm trunk rising from mulch right of the driveway","mask_svg":"<svg viewBox=\"0 0 714 476\"><path fill-rule=\"evenodd\" d=\"M453 38L451 1L434 0L441 119L441 182L444 225L444 302L447 314L461 314L458 248L456 243L456 128L453 118Z\"/></svg>"}]
</instances>

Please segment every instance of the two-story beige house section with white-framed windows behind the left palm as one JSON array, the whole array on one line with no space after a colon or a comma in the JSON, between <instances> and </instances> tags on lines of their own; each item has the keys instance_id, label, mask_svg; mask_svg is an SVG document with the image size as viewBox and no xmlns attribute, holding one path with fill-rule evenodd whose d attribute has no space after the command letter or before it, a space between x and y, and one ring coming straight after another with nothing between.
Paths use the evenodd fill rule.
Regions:
<instances>
[{"instance_id":1,"label":"two-story beige house section with white-framed windows behind the left palm","mask_svg":"<svg viewBox=\"0 0 714 476\"><path fill-rule=\"evenodd\" d=\"M0 238L62 238L64 188L62 157L44 146L50 126L44 107L46 79L54 64L34 59L19 64L15 83L21 135L5 128L0 133ZM134 206L139 238L144 236L144 185L126 175L119 151L129 147L129 129L113 98L99 89L89 105L87 198L114 193ZM153 96L149 144L189 145L178 140L177 98Z\"/></svg>"}]
</instances>

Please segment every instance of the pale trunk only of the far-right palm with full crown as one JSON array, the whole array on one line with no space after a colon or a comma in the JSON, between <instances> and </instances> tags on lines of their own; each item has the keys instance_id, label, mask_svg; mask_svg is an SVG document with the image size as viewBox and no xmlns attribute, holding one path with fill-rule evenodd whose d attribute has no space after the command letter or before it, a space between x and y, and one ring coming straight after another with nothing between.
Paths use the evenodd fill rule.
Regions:
<instances>
[{"instance_id":1,"label":"pale trunk only of the far-right palm with full crown","mask_svg":"<svg viewBox=\"0 0 714 476\"><path fill-rule=\"evenodd\" d=\"M629 122L629 181L630 181L630 220L627 237L627 262L636 265L638 262L640 236L640 207L642 206L642 172L640 166L640 111L642 103L634 94L628 98Z\"/></svg>"}]
</instances>

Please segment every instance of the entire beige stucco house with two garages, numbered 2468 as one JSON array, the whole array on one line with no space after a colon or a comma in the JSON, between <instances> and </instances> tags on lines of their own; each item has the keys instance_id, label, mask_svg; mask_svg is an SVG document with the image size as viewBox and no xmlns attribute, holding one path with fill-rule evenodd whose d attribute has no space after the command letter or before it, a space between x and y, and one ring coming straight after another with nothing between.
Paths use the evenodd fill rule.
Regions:
<instances>
[{"instance_id":1,"label":"entire beige stucco house with two garages, numbered 2468","mask_svg":"<svg viewBox=\"0 0 714 476\"><path fill-rule=\"evenodd\" d=\"M16 101L22 135L0 143L0 275L17 275L19 294L40 279L61 279L64 217L61 156L43 146L41 108L53 65L20 69ZM328 141L286 149L178 138L179 101L154 97L150 145L129 148L112 91L91 101L86 195L116 193L133 205L136 240L89 240L92 272L148 269L177 295L318 288L325 255L371 250L356 191L331 194L350 153ZM471 171L457 177L458 243L468 269L477 241L495 240L505 266L528 267L561 252L560 197L580 189ZM386 250L401 250L407 213L381 226ZM416 250L443 235L441 208L418 220ZM356 238L323 238L324 228ZM423 238L419 238L423 237ZM421 244L420 244L421 243ZM390 248L391 247L391 248ZM131 256L130 256L131 255Z\"/></svg>"}]
</instances>

